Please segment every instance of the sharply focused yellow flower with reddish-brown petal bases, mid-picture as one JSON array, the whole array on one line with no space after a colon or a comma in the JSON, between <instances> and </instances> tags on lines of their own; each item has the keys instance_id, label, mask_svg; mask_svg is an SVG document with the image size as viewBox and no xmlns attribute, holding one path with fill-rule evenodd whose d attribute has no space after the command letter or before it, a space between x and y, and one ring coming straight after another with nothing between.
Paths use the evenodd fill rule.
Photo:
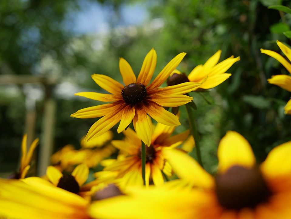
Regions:
<instances>
[{"instance_id":1,"label":"sharply focused yellow flower with reddish-brown petal bases, mid-picture","mask_svg":"<svg viewBox=\"0 0 291 219\"><path fill-rule=\"evenodd\" d=\"M106 75L92 75L93 80L111 94L80 92L77 96L83 96L107 103L80 109L71 116L77 118L102 117L88 131L86 140L100 136L120 121L117 132L122 132L133 120L137 135L145 144L151 143L151 127L147 114L159 123L168 126L178 126L177 117L168 112L163 106L175 107L190 102L193 98L182 95L199 87L199 83L186 82L181 85L159 88L171 72L182 61L186 53L180 53L174 57L149 85L154 73L157 54L152 49L145 57L138 77L128 62L120 58L119 69L124 85Z\"/></svg>"}]
</instances>

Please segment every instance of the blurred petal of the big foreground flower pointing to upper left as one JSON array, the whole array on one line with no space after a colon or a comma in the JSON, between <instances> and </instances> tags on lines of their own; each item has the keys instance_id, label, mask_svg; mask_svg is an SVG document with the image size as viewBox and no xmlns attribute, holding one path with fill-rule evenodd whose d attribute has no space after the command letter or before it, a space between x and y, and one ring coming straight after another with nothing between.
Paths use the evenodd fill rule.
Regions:
<instances>
[{"instance_id":1,"label":"blurred petal of the big foreground flower pointing to upper left","mask_svg":"<svg viewBox=\"0 0 291 219\"><path fill-rule=\"evenodd\" d=\"M165 159L181 179L203 188L213 188L213 177L206 172L190 155L178 149L163 149Z\"/></svg>"}]
</instances>

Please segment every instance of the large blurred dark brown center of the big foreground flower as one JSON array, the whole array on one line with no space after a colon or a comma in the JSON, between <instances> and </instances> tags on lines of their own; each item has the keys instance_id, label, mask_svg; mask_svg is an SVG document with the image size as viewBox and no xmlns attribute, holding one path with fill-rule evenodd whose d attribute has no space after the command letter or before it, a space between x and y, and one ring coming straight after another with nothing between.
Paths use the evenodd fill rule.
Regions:
<instances>
[{"instance_id":1,"label":"large blurred dark brown center of the big foreground flower","mask_svg":"<svg viewBox=\"0 0 291 219\"><path fill-rule=\"evenodd\" d=\"M217 175L215 180L217 198L226 209L254 208L266 202L271 195L262 173L256 167L247 169L232 166L225 173Z\"/></svg>"}]
</instances>

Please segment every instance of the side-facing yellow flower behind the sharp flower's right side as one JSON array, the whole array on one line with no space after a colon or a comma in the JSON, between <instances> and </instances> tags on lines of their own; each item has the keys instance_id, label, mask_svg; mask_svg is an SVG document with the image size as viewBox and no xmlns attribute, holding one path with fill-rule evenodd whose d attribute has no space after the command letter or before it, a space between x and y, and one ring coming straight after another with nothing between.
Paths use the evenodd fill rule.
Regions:
<instances>
[{"instance_id":1,"label":"side-facing yellow flower behind the sharp flower's right side","mask_svg":"<svg viewBox=\"0 0 291 219\"><path fill-rule=\"evenodd\" d=\"M200 89L210 89L217 85L220 85L231 74L225 73L235 62L240 60L240 57L234 58L231 56L224 61L218 63L221 55L221 50L218 50L213 56L211 56L204 65L200 64L196 66L190 74L187 76L185 73L181 73L175 69L170 78L167 80L168 85L177 85L184 82L197 82L201 83ZM218 63L218 64L217 64Z\"/></svg>"}]
</instances>

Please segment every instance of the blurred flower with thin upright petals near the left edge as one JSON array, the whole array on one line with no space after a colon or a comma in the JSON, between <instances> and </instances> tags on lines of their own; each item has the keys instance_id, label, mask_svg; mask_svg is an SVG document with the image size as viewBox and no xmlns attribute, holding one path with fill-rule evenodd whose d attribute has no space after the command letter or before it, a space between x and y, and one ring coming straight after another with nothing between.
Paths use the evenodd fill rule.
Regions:
<instances>
[{"instance_id":1,"label":"blurred flower with thin upright petals near the left edge","mask_svg":"<svg viewBox=\"0 0 291 219\"><path fill-rule=\"evenodd\" d=\"M27 151L27 134L23 135L22 144L21 144L21 160L19 172L12 174L9 178L13 179L23 179L27 175L31 162L33 151L35 150L39 139L36 138L30 145L29 150Z\"/></svg>"}]
</instances>

